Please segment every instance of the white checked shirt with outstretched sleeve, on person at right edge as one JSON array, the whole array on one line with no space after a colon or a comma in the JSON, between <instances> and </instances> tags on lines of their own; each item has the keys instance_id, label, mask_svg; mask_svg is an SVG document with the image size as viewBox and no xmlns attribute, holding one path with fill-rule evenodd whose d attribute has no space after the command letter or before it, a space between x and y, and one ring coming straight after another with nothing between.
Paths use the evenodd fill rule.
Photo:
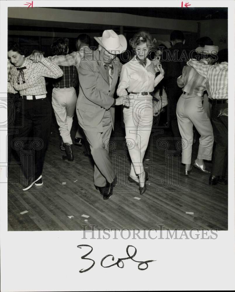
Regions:
<instances>
[{"instance_id":1,"label":"white checked shirt with outstretched sleeve, on person at right edge","mask_svg":"<svg viewBox=\"0 0 235 292\"><path fill-rule=\"evenodd\" d=\"M211 99L228 99L228 63L205 65L190 59L187 65L192 66L209 82Z\"/></svg>"}]
</instances>

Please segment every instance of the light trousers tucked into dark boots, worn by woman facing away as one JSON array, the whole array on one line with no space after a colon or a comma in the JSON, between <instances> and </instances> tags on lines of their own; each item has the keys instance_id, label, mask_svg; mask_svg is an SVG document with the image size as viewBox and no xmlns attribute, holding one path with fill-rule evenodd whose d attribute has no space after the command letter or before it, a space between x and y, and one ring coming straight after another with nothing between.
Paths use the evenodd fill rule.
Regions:
<instances>
[{"instance_id":1,"label":"light trousers tucked into dark boots, worn by woman facing away","mask_svg":"<svg viewBox=\"0 0 235 292\"><path fill-rule=\"evenodd\" d=\"M52 107L64 143L72 144L70 131L76 108L77 95L74 87L53 88Z\"/></svg>"}]
</instances>

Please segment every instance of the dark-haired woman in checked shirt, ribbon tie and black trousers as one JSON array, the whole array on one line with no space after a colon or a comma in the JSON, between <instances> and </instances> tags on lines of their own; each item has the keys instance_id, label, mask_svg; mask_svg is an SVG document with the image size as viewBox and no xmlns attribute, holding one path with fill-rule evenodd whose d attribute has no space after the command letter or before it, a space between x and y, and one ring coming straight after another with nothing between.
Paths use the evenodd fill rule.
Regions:
<instances>
[{"instance_id":1,"label":"dark-haired woman in checked shirt, ribbon tie and black trousers","mask_svg":"<svg viewBox=\"0 0 235 292\"><path fill-rule=\"evenodd\" d=\"M17 43L8 44L8 59L14 65L8 93L19 91L23 99L23 106L16 114L18 133L12 144L18 152L26 178L22 190L27 191L34 184L43 184L41 174L51 129L51 104L46 98L44 77L58 78L63 71L43 56L39 63L25 58L24 50ZM26 149L27 144L30 151Z\"/></svg>"}]
</instances>

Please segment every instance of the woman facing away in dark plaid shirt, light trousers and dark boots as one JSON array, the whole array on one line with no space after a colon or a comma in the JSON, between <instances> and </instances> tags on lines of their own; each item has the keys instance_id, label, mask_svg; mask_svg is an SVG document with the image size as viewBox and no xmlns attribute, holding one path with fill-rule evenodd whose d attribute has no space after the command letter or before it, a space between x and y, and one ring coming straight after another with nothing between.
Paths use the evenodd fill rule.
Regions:
<instances>
[{"instance_id":1,"label":"woman facing away in dark plaid shirt, light trousers and dark boots","mask_svg":"<svg viewBox=\"0 0 235 292\"><path fill-rule=\"evenodd\" d=\"M69 52L69 40L60 38L51 44L53 55L66 55ZM60 149L65 150L63 159L74 160L70 131L76 108L77 95L74 87L78 84L78 73L75 66L59 66L64 74L55 80L52 91L52 106L59 126L62 143Z\"/></svg>"}]
</instances>

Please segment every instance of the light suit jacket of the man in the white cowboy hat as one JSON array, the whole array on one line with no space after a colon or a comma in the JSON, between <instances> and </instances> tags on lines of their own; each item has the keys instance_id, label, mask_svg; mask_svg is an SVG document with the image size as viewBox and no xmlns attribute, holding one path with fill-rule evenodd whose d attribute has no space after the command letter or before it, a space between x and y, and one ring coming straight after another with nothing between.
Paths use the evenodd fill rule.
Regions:
<instances>
[{"instance_id":1,"label":"light suit jacket of the man in the white cowboy hat","mask_svg":"<svg viewBox=\"0 0 235 292\"><path fill-rule=\"evenodd\" d=\"M116 57L112 60L114 67L111 88L105 67L100 60L100 52L82 58L79 64L79 95L77 100L79 125L87 131L103 132L102 120L109 110L114 128L114 91L121 72L121 63Z\"/></svg>"}]
</instances>

